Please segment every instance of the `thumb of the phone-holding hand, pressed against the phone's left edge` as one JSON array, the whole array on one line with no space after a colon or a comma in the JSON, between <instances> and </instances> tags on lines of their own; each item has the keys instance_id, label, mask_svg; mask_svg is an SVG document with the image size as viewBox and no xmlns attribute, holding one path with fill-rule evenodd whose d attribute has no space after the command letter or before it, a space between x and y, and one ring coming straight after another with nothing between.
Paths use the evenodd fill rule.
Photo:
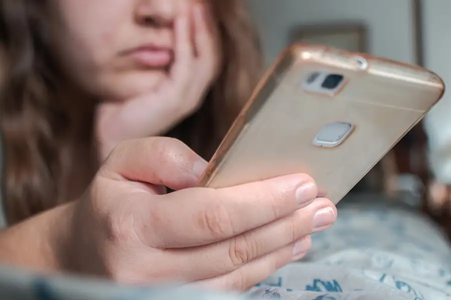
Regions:
<instances>
[{"instance_id":1,"label":"thumb of the phone-holding hand, pressed against the phone's left edge","mask_svg":"<svg viewBox=\"0 0 451 300\"><path fill-rule=\"evenodd\" d=\"M120 143L101 167L100 174L177 190L196 186L206 164L178 139L147 137Z\"/></svg>"}]
</instances>

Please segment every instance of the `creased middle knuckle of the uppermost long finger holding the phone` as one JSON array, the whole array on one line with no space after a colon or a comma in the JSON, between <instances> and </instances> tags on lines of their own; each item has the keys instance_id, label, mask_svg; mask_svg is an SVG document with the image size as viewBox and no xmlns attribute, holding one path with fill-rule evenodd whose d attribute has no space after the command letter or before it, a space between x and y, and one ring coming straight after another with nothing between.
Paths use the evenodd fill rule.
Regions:
<instances>
[{"instance_id":1,"label":"creased middle knuckle of the uppermost long finger holding the phone","mask_svg":"<svg viewBox=\"0 0 451 300\"><path fill-rule=\"evenodd\" d=\"M233 236L235 231L231 215L220 201L213 201L206 206L200 217L200 226L213 238Z\"/></svg>"}]
</instances>

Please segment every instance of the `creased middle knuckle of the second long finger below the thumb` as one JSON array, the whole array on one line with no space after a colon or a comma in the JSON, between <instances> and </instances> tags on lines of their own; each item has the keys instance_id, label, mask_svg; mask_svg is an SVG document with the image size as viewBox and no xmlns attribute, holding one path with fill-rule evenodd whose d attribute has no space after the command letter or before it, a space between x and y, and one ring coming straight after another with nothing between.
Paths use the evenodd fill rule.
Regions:
<instances>
[{"instance_id":1,"label":"creased middle knuckle of the second long finger below the thumb","mask_svg":"<svg viewBox=\"0 0 451 300\"><path fill-rule=\"evenodd\" d=\"M240 267L257 256L257 245L250 241L245 234L232 239L229 248L229 257L235 267Z\"/></svg>"}]
</instances>

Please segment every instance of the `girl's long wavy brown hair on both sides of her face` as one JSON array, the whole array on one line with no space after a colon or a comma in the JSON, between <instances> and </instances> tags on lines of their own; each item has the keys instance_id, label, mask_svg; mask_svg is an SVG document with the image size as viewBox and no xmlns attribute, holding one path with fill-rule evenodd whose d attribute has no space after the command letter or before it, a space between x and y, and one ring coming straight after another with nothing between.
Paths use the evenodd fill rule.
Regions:
<instances>
[{"instance_id":1,"label":"girl's long wavy brown hair on both sides of her face","mask_svg":"<svg viewBox=\"0 0 451 300\"><path fill-rule=\"evenodd\" d=\"M9 223L75 199L98 167L94 102L77 104L85 115L80 120L59 96L64 82L50 54L46 2L0 4L2 192ZM222 71L198 111L168 132L206 159L250 96L261 67L244 0L211 4L222 40ZM82 132L77 143L75 132Z\"/></svg>"}]
</instances>

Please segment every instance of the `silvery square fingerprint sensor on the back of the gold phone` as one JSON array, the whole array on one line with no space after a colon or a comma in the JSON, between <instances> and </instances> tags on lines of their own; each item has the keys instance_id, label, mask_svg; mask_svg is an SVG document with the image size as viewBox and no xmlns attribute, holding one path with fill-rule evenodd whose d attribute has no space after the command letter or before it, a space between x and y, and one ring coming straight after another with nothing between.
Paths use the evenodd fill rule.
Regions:
<instances>
[{"instance_id":1,"label":"silvery square fingerprint sensor on the back of the gold phone","mask_svg":"<svg viewBox=\"0 0 451 300\"><path fill-rule=\"evenodd\" d=\"M345 122L332 122L326 124L315 136L313 145L320 147L336 147L351 134L353 126Z\"/></svg>"}]
</instances>

